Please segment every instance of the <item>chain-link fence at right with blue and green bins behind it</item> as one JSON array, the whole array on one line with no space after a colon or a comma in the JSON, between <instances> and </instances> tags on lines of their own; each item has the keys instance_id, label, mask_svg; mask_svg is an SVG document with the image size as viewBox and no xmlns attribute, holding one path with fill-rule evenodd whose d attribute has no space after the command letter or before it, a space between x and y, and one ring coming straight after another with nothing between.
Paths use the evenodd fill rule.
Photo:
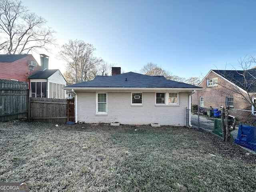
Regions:
<instances>
[{"instance_id":1,"label":"chain-link fence at right with blue and green bins behind it","mask_svg":"<svg viewBox=\"0 0 256 192\"><path fill-rule=\"evenodd\" d=\"M231 131L232 139L237 144L256 151L256 112L230 109L228 125L233 126L234 118L236 126L235 130ZM221 109L187 110L187 126L213 132L222 137Z\"/></svg>"}]
</instances>

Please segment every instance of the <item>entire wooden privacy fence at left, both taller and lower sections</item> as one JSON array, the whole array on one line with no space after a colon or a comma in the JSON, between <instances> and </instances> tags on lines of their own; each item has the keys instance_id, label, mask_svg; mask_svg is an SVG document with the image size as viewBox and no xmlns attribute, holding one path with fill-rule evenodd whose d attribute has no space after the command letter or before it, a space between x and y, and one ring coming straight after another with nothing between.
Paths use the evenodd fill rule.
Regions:
<instances>
[{"instance_id":1,"label":"entire wooden privacy fence at left, both taller and lower sections","mask_svg":"<svg viewBox=\"0 0 256 192\"><path fill-rule=\"evenodd\" d=\"M28 82L0 79L0 122L74 122L74 99L30 98Z\"/></svg>"}]
</instances>

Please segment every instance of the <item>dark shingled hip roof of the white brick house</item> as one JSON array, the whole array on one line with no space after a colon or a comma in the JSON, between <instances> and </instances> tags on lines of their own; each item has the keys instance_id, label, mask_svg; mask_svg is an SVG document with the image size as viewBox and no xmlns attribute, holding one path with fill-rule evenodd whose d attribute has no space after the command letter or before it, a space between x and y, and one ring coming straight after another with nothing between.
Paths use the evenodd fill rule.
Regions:
<instances>
[{"instance_id":1,"label":"dark shingled hip roof of the white brick house","mask_svg":"<svg viewBox=\"0 0 256 192\"><path fill-rule=\"evenodd\" d=\"M164 76L148 76L134 72L114 76L96 76L94 80L66 87L115 87L115 88L200 88L198 86L167 80Z\"/></svg>"}]
</instances>

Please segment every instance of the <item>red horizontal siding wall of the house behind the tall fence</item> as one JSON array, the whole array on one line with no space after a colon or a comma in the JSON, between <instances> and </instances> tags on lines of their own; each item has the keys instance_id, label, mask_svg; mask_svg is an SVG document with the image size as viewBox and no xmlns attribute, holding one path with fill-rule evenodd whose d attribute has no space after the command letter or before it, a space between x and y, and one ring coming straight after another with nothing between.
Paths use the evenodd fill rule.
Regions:
<instances>
[{"instance_id":1,"label":"red horizontal siding wall of the house behind the tall fence","mask_svg":"<svg viewBox=\"0 0 256 192\"><path fill-rule=\"evenodd\" d=\"M32 55L28 55L14 62L0 62L0 79L13 79L23 82L30 82L28 76L40 70L40 65L37 62L37 66L34 67L34 70L29 70L28 61L37 62Z\"/></svg>"}]
</instances>

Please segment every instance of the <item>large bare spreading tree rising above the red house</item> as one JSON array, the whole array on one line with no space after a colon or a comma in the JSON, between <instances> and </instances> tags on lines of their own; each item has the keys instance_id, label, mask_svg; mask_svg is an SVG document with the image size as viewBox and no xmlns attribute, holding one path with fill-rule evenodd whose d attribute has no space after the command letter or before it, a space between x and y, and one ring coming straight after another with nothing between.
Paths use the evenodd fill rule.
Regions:
<instances>
[{"instance_id":1,"label":"large bare spreading tree rising above the red house","mask_svg":"<svg viewBox=\"0 0 256 192\"><path fill-rule=\"evenodd\" d=\"M29 12L22 2L0 0L0 51L4 54L48 51L56 42L54 33L44 18Z\"/></svg>"}]
</instances>

